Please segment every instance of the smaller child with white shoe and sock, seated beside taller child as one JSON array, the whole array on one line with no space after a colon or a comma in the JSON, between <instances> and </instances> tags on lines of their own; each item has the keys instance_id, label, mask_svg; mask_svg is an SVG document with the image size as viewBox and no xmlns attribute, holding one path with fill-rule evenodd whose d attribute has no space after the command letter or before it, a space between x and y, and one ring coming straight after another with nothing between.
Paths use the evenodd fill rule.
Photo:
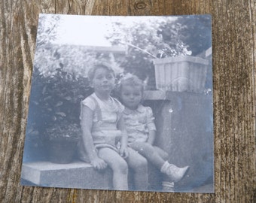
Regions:
<instances>
[{"instance_id":1,"label":"smaller child with white shoe and sock, seated beside taller child","mask_svg":"<svg viewBox=\"0 0 256 203\"><path fill-rule=\"evenodd\" d=\"M163 182L163 190L173 191L173 184L181 180L188 166L178 168L167 162L168 154L153 146L156 127L151 108L140 104L143 95L143 83L138 77L129 74L120 80L120 100L125 106L123 119L128 133L128 145L148 159L153 165L169 177Z\"/></svg>"}]
</instances>

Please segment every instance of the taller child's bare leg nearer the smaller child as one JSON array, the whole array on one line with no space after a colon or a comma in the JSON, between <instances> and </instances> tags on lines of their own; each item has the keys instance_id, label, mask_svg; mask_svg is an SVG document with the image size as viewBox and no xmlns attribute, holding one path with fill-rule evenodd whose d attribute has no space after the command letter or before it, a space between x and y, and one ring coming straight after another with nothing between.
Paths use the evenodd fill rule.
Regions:
<instances>
[{"instance_id":1,"label":"taller child's bare leg nearer the smaller child","mask_svg":"<svg viewBox=\"0 0 256 203\"><path fill-rule=\"evenodd\" d=\"M128 147L129 156L126 162L133 169L133 179L136 189L148 189L148 162L142 155L137 153L132 148Z\"/></svg>"}]
</instances>

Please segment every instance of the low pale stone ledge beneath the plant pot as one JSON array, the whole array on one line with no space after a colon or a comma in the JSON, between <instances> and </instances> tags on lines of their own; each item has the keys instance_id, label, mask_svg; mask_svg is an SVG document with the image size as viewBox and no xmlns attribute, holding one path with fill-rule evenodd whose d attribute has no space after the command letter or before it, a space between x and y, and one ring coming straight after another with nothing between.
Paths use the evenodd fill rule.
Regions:
<instances>
[{"instance_id":1,"label":"low pale stone ledge beneath the plant pot","mask_svg":"<svg viewBox=\"0 0 256 203\"><path fill-rule=\"evenodd\" d=\"M80 189L111 189L111 170L99 172L85 162L56 164L52 162L23 163L21 177L38 186Z\"/></svg>"}]
</instances>

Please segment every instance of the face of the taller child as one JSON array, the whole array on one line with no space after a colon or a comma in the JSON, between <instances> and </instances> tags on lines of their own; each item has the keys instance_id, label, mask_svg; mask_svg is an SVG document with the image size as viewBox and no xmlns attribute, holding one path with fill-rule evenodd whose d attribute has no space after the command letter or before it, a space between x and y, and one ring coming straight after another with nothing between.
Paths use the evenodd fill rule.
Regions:
<instances>
[{"instance_id":1,"label":"face of the taller child","mask_svg":"<svg viewBox=\"0 0 256 203\"><path fill-rule=\"evenodd\" d=\"M114 89L114 74L106 68L97 68L91 86L94 92L111 92Z\"/></svg>"}]
</instances>

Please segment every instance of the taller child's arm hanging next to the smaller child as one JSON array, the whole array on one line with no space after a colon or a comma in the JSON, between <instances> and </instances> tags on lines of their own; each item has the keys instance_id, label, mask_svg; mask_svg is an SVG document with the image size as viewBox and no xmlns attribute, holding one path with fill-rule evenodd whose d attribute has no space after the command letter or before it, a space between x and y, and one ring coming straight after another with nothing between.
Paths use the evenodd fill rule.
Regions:
<instances>
[{"instance_id":1,"label":"taller child's arm hanging next to the smaller child","mask_svg":"<svg viewBox=\"0 0 256 203\"><path fill-rule=\"evenodd\" d=\"M127 132L126 127L123 121L123 115L120 116L120 119L117 123L117 129L121 131L121 147L120 147L120 156L123 156L123 158L127 158L129 156L128 150L127 150Z\"/></svg>"}]
</instances>

